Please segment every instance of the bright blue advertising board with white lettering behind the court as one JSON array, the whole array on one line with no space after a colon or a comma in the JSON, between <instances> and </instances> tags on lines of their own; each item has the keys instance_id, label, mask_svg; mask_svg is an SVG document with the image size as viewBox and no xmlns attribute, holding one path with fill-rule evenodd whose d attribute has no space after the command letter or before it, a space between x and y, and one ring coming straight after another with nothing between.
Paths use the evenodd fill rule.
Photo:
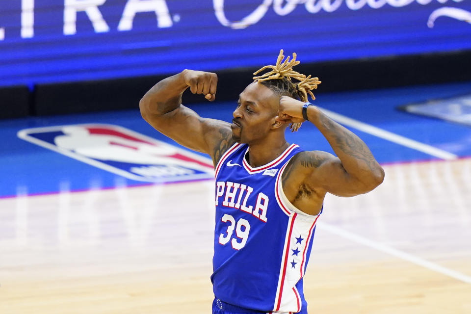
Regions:
<instances>
[{"instance_id":1,"label":"bright blue advertising board with white lettering behind the court","mask_svg":"<svg viewBox=\"0 0 471 314\"><path fill-rule=\"evenodd\" d=\"M77 32L65 35L64 0L34 0L33 35L22 38L22 1L2 0L0 85L260 66L272 64L280 48L298 52L303 63L471 49L469 23L439 17L427 26L431 14L443 7L466 15L470 0L309 0L290 1L306 2L291 6L278 0L156 0L164 12L161 27L155 12L141 12L130 30L121 31L128 0L101 2L97 8L109 30L97 32L81 11ZM231 24L256 9L261 14L252 23Z\"/></svg>"}]
</instances>

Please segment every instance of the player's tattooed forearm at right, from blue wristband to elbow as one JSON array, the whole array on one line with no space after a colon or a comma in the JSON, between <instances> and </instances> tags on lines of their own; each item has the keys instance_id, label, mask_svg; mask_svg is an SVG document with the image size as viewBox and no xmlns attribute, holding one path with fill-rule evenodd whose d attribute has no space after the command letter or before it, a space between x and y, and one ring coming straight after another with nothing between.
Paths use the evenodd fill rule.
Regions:
<instances>
[{"instance_id":1,"label":"player's tattooed forearm at right, from blue wristband to elbow","mask_svg":"<svg viewBox=\"0 0 471 314\"><path fill-rule=\"evenodd\" d=\"M347 173L366 184L382 182L383 168L357 135L314 106L308 108L308 118L332 146Z\"/></svg>"}]
</instances>

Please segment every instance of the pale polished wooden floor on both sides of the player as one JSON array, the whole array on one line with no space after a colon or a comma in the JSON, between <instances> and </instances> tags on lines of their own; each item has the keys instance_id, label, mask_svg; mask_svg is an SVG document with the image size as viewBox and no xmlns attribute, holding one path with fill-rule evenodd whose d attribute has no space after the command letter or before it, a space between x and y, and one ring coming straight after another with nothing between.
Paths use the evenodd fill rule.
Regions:
<instances>
[{"instance_id":1,"label":"pale polished wooden floor on both sides of the player","mask_svg":"<svg viewBox=\"0 0 471 314\"><path fill-rule=\"evenodd\" d=\"M309 313L471 313L471 159L384 166L329 196ZM1 314L210 313L213 182L0 200Z\"/></svg>"}]
</instances>

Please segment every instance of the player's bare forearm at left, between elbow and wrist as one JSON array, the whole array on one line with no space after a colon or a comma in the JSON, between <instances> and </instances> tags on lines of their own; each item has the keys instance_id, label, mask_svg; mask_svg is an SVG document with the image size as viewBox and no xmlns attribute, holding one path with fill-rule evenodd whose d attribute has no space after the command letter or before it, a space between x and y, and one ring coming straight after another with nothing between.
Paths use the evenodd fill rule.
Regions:
<instances>
[{"instance_id":1,"label":"player's bare forearm at left, between elbow and wrist","mask_svg":"<svg viewBox=\"0 0 471 314\"><path fill-rule=\"evenodd\" d=\"M162 115L174 110L182 103L182 94L187 88L183 72L162 79L140 100L142 115Z\"/></svg>"}]
</instances>

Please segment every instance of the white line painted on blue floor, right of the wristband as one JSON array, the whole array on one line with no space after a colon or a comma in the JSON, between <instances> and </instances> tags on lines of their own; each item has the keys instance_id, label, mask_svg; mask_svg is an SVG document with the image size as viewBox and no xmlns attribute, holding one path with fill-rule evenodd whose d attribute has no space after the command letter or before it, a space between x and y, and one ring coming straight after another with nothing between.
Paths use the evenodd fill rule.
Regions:
<instances>
[{"instance_id":1,"label":"white line painted on blue floor, right of the wristband","mask_svg":"<svg viewBox=\"0 0 471 314\"><path fill-rule=\"evenodd\" d=\"M427 145L424 143L420 143L418 141L415 141L413 139L392 133L390 131L386 131L377 127L373 127L372 125L360 122L358 120L346 117L344 115L341 115L339 113L324 109L322 107L318 107L322 112L327 114L329 117L334 119L335 121L339 122L340 124L352 127L354 129L357 129L359 131L363 131L366 133L369 133L371 135L383 138L385 140L388 140L390 142L409 147L412 149L415 149L417 151L420 151L422 153L442 158L445 160L453 160L457 159L458 156L449 152L446 152L444 150L441 150L439 148L433 147L431 145Z\"/></svg>"}]
</instances>

